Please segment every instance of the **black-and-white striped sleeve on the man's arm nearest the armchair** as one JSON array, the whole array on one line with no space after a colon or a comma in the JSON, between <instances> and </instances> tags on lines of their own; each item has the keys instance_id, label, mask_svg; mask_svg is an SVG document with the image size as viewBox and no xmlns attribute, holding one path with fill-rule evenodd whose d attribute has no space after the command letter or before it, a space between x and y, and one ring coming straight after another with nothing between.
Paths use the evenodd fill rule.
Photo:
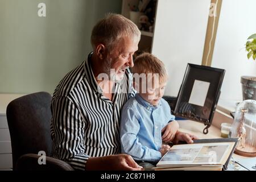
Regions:
<instances>
[{"instance_id":1,"label":"black-and-white striped sleeve on the man's arm nearest the armchair","mask_svg":"<svg viewBox=\"0 0 256 182\"><path fill-rule=\"evenodd\" d=\"M79 109L68 97L52 100L52 156L69 163L74 169L85 170L89 156L84 145L85 122Z\"/></svg>"}]
</instances>

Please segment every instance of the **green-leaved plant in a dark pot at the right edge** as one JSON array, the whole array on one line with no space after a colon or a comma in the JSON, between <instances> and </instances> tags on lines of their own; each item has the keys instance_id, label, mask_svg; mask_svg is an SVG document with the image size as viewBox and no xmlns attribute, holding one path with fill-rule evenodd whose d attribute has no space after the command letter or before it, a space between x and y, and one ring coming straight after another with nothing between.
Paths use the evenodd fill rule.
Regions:
<instances>
[{"instance_id":1,"label":"green-leaved plant in a dark pot at the right edge","mask_svg":"<svg viewBox=\"0 0 256 182\"><path fill-rule=\"evenodd\" d=\"M256 34L251 35L246 42L247 58L256 59ZM243 100L256 100L256 77L241 77Z\"/></svg>"}]
</instances>

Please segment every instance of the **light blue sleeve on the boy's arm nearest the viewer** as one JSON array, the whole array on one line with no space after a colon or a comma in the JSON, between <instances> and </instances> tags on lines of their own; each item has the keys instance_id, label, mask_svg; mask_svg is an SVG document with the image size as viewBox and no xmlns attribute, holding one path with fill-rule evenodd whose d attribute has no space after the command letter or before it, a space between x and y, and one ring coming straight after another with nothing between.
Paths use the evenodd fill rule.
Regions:
<instances>
[{"instance_id":1,"label":"light blue sleeve on the boy's arm nearest the viewer","mask_svg":"<svg viewBox=\"0 0 256 182\"><path fill-rule=\"evenodd\" d=\"M137 136L139 120L132 108L124 108L121 115L120 138L122 153L131 155L135 160L156 162L162 158L159 151L143 146Z\"/></svg>"}]
</instances>

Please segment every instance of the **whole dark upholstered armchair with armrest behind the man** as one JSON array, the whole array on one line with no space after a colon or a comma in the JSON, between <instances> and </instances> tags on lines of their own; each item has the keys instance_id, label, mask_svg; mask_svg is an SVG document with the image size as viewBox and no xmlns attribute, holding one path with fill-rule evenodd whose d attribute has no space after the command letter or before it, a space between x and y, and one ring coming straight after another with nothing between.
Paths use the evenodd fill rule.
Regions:
<instances>
[{"instance_id":1,"label":"whole dark upholstered armchair with armrest behind the man","mask_svg":"<svg viewBox=\"0 0 256 182\"><path fill-rule=\"evenodd\" d=\"M52 147L51 95L28 94L7 106L14 170L73 170L62 160L49 157ZM39 164L39 151L46 152L46 164Z\"/></svg>"}]
</instances>

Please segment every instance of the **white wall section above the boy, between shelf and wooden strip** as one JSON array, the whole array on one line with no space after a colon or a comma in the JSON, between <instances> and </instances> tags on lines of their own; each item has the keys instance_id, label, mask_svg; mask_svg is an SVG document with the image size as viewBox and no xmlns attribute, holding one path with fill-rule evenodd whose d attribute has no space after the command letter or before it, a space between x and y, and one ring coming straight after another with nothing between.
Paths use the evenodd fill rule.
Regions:
<instances>
[{"instance_id":1,"label":"white wall section above the boy, between shelf and wooden strip","mask_svg":"<svg viewBox=\"0 0 256 182\"><path fill-rule=\"evenodd\" d=\"M166 95L177 96L188 63L201 64L210 0L159 0L152 53L166 64Z\"/></svg>"}]
</instances>

